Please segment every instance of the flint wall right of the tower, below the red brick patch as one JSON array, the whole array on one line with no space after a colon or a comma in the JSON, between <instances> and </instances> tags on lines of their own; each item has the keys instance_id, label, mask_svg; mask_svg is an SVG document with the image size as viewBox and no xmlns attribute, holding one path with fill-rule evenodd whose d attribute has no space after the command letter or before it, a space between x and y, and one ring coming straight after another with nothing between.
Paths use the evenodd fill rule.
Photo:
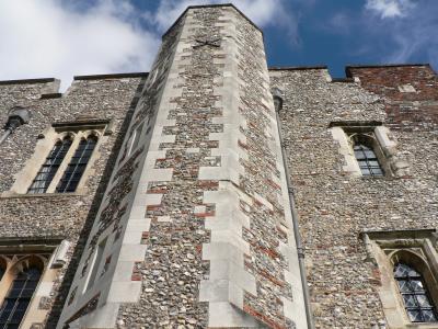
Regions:
<instances>
[{"instance_id":1,"label":"flint wall right of the tower, below the red brick patch","mask_svg":"<svg viewBox=\"0 0 438 329\"><path fill-rule=\"evenodd\" d=\"M407 76L418 75L423 71ZM394 123L392 112L387 112L391 98L382 92L392 83L382 78L385 68L379 70L380 80L367 80L360 70L358 76L361 83L331 82L326 69L270 70L272 87L285 93L280 120L316 328L370 328L384 320L378 295L381 273L365 261L360 231L435 228L438 219L436 129L392 129L397 155L411 166L408 177L367 179L342 171L343 156L328 129L331 122ZM420 86L427 84L416 78L404 83L418 89L417 99ZM425 94L425 101L436 102L430 91ZM418 124L415 121L414 126Z\"/></svg>"}]
</instances>

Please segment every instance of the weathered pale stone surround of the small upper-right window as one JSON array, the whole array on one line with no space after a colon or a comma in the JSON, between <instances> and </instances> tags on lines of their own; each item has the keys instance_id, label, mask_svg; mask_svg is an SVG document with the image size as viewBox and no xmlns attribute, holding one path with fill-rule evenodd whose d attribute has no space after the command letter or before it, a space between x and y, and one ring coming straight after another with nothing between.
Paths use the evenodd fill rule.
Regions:
<instances>
[{"instance_id":1,"label":"weathered pale stone surround of the small upper-right window","mask_svg":"<svg viewBox=\"0 0 438 329\"><path fill-rule=\"evenodd\" d=\"M408 175L408 163L397 158L397 143L381 122L332 122L328 126L338 151L344 157L343 171L351 177L362 177L353 150L357 136L366 138L384 171L382 178ZM376 177L362 177L376 179Z\"/></svg>"}]
</instances>

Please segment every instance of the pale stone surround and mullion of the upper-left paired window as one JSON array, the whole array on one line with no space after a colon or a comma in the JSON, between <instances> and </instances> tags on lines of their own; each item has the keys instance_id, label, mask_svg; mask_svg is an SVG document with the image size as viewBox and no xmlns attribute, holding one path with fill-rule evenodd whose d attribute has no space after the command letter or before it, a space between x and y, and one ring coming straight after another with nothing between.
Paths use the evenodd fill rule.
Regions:
<instances>
[{"instance_id":1,"label":"pale stone surround and mullion of the upper-left paired window","mask_svg":"<svg viewBox=\"0 0 438 329\"><path fill-rule=\"evenodd\" d=\"M47 195L83 195L87 193L87 179L92 175L93 164L100 157L100 146L106 139L105 136L112 134L113 123L108 120L89 120L89 121L76 121L76 122L61 122L55 123L51 127L44 131L43 134L38 135L38 141L35 146L35 151L32 157L26 161L24 168L15 174L15 181L11 186L10 191L5 191L1 194L1 197L34 197L34 196L47 196ZM56 186L58 185L71 157L79 146L81 138L87 138L90 135L97 137L97 144L94 148L93 154L87 164L87 169L83 172L81 180L74 192L69 193L57 193ZM58 171L51 180L46 193L27 194L28 186L31 186L34 178L36 177L39 168L43 166L47 155L53 149L57 140L61 140L66 136L70 136L72 144L64 158Z\"/></svg>"}]
</instances>

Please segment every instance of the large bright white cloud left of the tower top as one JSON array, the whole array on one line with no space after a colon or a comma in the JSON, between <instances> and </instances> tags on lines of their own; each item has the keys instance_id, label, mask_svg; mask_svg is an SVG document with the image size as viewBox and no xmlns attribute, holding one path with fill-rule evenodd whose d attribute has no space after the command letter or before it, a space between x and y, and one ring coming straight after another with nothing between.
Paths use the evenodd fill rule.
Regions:
<instances>
[{"instance_id":1,"label":"large bright white cloud left of the tower top","mask_svg":"<svg viewBox=\"0 0 438 329\"><path fill-rule=\"evenodd\" d=\"M78 7L78 5L77 5ZM0 1L0 79L148 70L159 37L140 27L129 1L80 10L60 0Z\"/></svg>"}]
</instances>

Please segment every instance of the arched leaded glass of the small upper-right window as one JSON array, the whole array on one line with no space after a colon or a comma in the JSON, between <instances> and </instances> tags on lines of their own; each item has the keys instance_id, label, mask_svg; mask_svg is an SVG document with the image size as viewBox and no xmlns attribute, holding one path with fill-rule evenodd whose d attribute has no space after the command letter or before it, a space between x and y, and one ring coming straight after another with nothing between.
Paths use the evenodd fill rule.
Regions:
<instances>
[{"instance_id":1,"label":"arched leaded glass of the small upper-right window","mask_svg":"<svg viewBox=\"0 0 438 329\"><path fill-rule=\"evenodd\" d=\"M365 134L351 136L353 150L359 164L360 172L366 177L381 177L384 174L379 158L376 155L373 140Z\"/></svg>"}]
</instances>

